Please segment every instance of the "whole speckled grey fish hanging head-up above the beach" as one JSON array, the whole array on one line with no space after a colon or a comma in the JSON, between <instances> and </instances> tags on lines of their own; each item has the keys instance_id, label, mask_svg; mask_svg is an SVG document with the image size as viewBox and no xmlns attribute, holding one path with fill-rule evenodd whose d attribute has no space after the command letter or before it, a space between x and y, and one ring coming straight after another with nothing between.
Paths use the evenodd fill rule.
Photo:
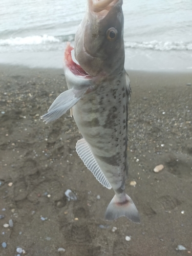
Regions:
<instances>
[{"instance_id":1,"label":"whole speckled grey fish hanging head-up above the beach","mask_svg":"<svg viewBox=\"0 0 192 256\"><path fill-rule=\"evenodd\" d=\"M123 23L122 0L88 0L74 48L68 42L65 50L68 90L41 118L48 123L71 110L82 135L76 144L77 154L95 178L115 192L105 219L125 216L139 223L138 210L125 193L131 87L124 69Z\"/></svg>"}]
</instances>

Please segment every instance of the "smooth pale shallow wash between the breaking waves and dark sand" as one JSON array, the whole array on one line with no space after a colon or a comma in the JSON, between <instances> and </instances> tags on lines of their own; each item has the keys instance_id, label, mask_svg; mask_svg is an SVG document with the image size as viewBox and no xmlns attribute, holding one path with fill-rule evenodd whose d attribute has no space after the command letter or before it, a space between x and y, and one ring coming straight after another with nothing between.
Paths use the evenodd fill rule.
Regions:
<instances>
[{"instance_id":1,"label":"smooth pale shallow wash between the breaking waves and dark sand","mask_svg":"<svg viewBox=\"0 0 192 256\"><path fill-rule=\"evenodd\" d=\"M62 68L62 50L0 53L0 63L30 68ZM188 51L160 51L125 48L125 69L143 71L191 71L192 56Z\"/></svg>"}]
</instances>

